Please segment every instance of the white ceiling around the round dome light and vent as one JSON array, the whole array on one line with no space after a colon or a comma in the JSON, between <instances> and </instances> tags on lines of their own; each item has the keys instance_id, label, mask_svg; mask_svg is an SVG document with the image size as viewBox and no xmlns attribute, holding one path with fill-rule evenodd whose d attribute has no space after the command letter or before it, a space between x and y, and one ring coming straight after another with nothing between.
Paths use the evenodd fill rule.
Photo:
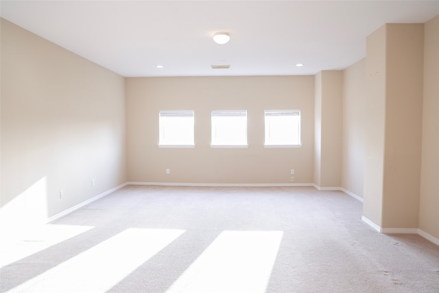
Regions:
<instances>
[{"instance_id":1,"label":"white ceiling around the round dome light and vent","mask_svg":"<svg viewBox=\"0 0 439 293\"><path fill-rule=\"evenodd\" d=\"M344 69L366 56L366 36L384 23L425 23L439 14L439 1L0 3L3 19L126 77ZM230 42L213 43L218 31L229 32Z\"/></svg>"}]
</instances>

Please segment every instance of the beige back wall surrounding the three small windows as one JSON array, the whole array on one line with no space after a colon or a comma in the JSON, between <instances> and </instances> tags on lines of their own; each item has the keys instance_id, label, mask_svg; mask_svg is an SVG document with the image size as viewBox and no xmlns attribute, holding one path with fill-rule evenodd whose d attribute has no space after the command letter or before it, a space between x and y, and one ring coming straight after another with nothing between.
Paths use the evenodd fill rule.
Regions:
<instances>
[{"instance_id":1,"label":"beige back wall surrounding the three small windows","mask_svg":"<svg viewBox=\"0 0 439 293\"><path fill-rule=\"evenodd\" d=\"M313 76L127 78L128 179L313 182ZM195 148L158 148L158 111L195 110ZM248 148L211 148L211 110L248 111ZM302 148L264 148L264 110L300 109ZM171 174L165 174L165 169Z\"/></svg>"}]
</instances>

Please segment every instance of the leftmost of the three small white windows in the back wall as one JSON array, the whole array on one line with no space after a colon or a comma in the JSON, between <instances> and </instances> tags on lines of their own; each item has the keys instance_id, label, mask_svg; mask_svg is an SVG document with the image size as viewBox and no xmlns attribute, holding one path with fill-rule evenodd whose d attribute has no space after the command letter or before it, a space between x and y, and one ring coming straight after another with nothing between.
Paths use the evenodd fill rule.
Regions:
<instances>
[{"instance_id":1,"label":"leftmost of the three small white windows in the back wall","mask_svg":"<svg viewBox=\"0 0 439 293\"><path fill-rule=\"evenodd\" d=\"M158 146L195 147L193 110L160 111L158 116Z\"/></svg>"}]
</instances>

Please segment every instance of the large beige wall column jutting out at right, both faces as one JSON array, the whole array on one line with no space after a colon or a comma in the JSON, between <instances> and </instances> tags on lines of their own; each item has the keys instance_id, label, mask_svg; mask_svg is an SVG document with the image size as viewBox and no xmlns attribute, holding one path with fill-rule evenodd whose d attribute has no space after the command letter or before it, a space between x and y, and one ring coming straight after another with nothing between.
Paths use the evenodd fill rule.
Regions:
<instances>
[{"instance_id":1,"label":"large beige wall column jutting out at right, both faces","mask_svg":"<svg viewBox=\"0 0 439 293\"><path fill-rule=\"evenodd\" d=\"M423 24L387 24L368 37L364 216L417 228L423 101ZM381 209L380 209L381 206Z\"/></svg>"}]
</instances>

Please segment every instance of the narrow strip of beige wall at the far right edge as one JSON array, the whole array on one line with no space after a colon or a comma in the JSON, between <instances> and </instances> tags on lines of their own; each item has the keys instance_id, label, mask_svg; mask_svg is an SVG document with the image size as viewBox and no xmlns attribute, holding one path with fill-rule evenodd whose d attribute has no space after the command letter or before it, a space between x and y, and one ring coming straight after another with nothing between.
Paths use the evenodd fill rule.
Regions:
<instances>
[{"instance_id":1,"label":"narrow strip of beige wall at the far right edge","mask_svg":"<svg viewBox=\"0 0 439 293\"><path fill-rule=\"evenodd\" d=\"M425 23L424 36L419 228L439 239L439 16Z\"/></svg>"}]
</instances>

